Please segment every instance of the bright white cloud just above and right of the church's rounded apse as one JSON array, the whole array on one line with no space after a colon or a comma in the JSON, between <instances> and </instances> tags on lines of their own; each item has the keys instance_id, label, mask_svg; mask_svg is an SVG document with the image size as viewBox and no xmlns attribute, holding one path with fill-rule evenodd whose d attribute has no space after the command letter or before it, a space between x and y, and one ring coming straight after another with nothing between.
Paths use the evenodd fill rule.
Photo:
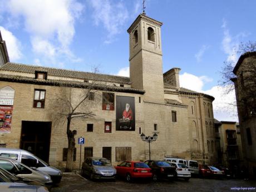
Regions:
<instances>
[{"instance_id":1,"label":"bright white cloud just above and right of the church's rounded apse","mask_svg":"<svg viewBox=\"0 0 256 192\"><path fill-rule=\"evenodd\" d=\"M213 81L207 76L195 76L189 73L180 75L180 86L193 91L203 92L215 98L213 101L214 118L219 121L238 121L235 92L225 93L226 87L214 86L210 90L203 90L205 83Z\"/></svg>"}]
</instances>

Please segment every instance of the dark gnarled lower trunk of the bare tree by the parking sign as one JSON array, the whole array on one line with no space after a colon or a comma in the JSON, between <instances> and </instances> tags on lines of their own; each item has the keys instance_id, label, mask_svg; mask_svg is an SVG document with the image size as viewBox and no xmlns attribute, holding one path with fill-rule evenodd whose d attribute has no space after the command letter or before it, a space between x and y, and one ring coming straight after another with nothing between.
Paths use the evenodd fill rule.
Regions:
<instances>
[{"instance_id":1,"label":"dark gnarled lower trunk of the bare tree by the parking sign","mask_svg":"<svg viewBox=\"0 0 256 192\"><path fill-rule=\"evenodd\" d=\"M73 170L73 152L75 149L75 135L76 131L70 130L70 122L71 118L67 118L67 140L68 140L68 150L67 150L67 164L66 164L66 172L72 172Z\"/></svg>"}]
</instances>

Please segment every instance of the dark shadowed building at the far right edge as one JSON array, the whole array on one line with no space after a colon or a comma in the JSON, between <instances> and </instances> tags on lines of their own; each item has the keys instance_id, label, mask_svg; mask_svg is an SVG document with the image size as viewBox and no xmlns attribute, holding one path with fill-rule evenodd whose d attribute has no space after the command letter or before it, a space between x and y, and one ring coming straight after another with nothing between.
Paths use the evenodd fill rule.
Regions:
<instances>
[{"instance_id":1,"label":"dark shadowed building at the far right edge","mask_svg":"<svg viewBox=\"0 0 256 192\"><path fill-rule=\"evenodd\" d=\"M234 67L235 96L245 166L256 177L256 52L240 56Z\"/></svg>"}]
</instances>

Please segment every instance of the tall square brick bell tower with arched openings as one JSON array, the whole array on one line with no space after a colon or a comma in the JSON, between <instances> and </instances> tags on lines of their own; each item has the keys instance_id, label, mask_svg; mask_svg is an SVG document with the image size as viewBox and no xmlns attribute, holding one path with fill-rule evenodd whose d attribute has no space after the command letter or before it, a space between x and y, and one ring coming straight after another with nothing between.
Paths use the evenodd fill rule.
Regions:
<instances>
[{"instance_id":1,"label":"tall square brick bell tower with arched openings","mask_svg":"<svg viewBox=\"0 0 256 192\"><path fill-rule=\"evenodd\" d=\"M142 13L127 30L131 87L145 90L144 101L164 102L162 24Z\"/></svg>"}]
</instances>

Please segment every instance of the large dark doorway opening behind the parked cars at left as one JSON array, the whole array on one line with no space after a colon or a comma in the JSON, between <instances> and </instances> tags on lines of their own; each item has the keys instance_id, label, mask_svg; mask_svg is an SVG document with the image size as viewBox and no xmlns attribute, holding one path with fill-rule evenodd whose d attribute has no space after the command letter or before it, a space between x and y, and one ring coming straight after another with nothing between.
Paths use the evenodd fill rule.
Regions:
<instances>
[{"instance_id":1,"label":"large dark doorway opening behind the parked cars at left","mask_svg":"<svg viewBox=\"0 0 256 192\"><path fill-rule=\"evenodd\" d=\"M51 122L22 121L20 148L49 162Z\"/></svg>"}]
</instances>

